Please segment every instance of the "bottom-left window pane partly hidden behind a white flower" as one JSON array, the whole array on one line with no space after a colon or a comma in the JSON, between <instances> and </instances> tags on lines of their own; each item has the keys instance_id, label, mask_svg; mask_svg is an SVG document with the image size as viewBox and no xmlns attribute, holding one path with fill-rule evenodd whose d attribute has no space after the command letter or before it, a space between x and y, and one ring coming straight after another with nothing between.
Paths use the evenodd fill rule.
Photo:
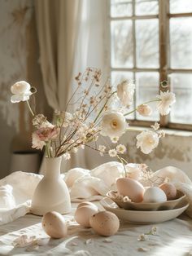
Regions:
<instances>
[{"instance_id":1,"label":"bottom-left window pane partly hidden behind a white flower","mask_svg":"<svg viewBox=\"0 0 192 256\"><path fill-rule=\"evenodd\" d=\"M111 72L111 84L112 86L114 86L115 88L114 90L116 90L116 86L124 80L133 81L133 73L132 72L116 72L116 71ZM129 120L134 119L134 113L130 114L126 118Z\"/></svg>"}]
</instances>

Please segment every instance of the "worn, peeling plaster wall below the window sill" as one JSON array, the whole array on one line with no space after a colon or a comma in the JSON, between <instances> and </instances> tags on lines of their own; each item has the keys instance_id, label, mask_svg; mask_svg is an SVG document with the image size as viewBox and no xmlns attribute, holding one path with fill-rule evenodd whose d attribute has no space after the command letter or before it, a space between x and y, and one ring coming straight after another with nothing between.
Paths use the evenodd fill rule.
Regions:
<instances>
[{"instance_id":1,"label":"worn, peeling plaster wall below the window sill","mask_svg":"<svg viewBox=\"0 0 192 256\"><path fill-rule=\"evenodd\" d=\"M137 129L143 130L139 127ZM165 166L175 166L184 170L192 179L192 133L177 130L165 130L165 132L166 135L160 139L159 146L148 155L143 154L140 149L136 148L138 131L127 132L120 139L120 142L124 143L128 149L124 158L131 163L145 163L153 171ZM103 141L100 143L103 143ZM111 144L111 147L114 147L114 144ZM106 161L116 161L112 157L100 157L98 153L90 150L87 150L86 154L89 169Z\"/></svg>"}]
</instances>

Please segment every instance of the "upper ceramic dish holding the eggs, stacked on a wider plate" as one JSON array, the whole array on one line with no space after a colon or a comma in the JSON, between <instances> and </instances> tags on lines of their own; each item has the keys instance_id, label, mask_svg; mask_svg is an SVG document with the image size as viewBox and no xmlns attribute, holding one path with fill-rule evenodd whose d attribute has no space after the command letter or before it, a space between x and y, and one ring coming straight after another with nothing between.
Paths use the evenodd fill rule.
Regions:
<instances>
[{"instance_id":1,"label":"upper ceramic dish holding the eggs, stacked on a wider plate","mask_svg":"<svg viewBox=\"0 0 192 256\"><path fill-rule=\"evenodd\" d=\"M114 201L120 208L124 208L124 210L172 210L186 198L185 194L178 190L176 199L162 203L134 203L132 201L124 201L124 197L121 196L120 198L118 192L114 190L107 192L107 197Z\"/></svg>"}]
</instances>

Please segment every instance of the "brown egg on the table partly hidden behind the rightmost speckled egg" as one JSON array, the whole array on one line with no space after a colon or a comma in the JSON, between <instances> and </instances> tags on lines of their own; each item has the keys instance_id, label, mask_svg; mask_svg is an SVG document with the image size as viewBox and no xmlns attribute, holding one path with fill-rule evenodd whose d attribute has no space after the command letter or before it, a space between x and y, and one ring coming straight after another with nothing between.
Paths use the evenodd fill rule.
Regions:
<instances>
[{"instance_id":1,"label":"brown egg on the table partly hidden behind the rightmost speckled egg","mask_svg":"<svg viewBox=\"0 0 192 256\"><path fill-rule=\"evenodd\" d=\"M96 214L98 209L95 209L92 205L84 205L76 209L75 220L83 227L90 227L89 218Z\"/></svg>"}]
</instances>

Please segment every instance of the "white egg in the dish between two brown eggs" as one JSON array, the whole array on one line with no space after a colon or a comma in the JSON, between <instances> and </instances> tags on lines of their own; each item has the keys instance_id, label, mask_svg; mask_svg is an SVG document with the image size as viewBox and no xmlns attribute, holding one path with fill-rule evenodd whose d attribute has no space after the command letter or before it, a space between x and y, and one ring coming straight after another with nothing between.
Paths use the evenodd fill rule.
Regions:
<instances>
[{"instance_id":1,"label":"white egg in the dish between two brown eggs","mask_svg":"<svg viewBox=\"0 0 192 256\"><path fill-rule=\"evenodd\" d=\"M143 202L161 203L167 201L167 196L164 191L157 187L147 188L143 195Z\"/></svg>"}]
</instances>

